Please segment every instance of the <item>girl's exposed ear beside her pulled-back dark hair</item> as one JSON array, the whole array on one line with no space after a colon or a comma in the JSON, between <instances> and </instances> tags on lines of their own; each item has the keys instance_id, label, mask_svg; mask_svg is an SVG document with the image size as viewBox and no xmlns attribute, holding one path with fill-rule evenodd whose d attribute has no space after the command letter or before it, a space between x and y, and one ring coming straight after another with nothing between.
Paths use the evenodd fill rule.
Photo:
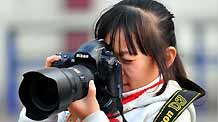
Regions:
<instances>
[{"instance_id":1,"label":"girl's exposed ear beside her pulled-back dark hair","mask_svg":"<svg viewBox=\"0 0 218 122\"><path fill-rule=\"evenodd\" d=\"M176 48L175 47L172 47L172 46L169 46L167 49L166 49L166 63L167 63L167 67L170 67L175 58L176 58Z\"/></svg>"}]
</instances>

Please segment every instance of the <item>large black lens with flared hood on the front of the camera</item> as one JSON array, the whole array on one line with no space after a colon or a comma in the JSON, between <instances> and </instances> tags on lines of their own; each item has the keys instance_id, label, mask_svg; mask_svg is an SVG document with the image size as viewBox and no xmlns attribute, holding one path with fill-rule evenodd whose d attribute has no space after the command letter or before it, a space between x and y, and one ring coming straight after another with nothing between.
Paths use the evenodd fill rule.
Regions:
<instances>
[{"instance_id":1,"label":"large black lens with flared hood on the front of the camera","mask_svg":"<svg viewBox=\"0 0 218 122\"><path fill-rule=\"evenodd\" d=\"M44 120L67 109L71 102L87 95L88 82L94 75L84 65L69 68L47 68L27 72L19 87L19 97L26 116Z\"/></svg>"}]
</instances>

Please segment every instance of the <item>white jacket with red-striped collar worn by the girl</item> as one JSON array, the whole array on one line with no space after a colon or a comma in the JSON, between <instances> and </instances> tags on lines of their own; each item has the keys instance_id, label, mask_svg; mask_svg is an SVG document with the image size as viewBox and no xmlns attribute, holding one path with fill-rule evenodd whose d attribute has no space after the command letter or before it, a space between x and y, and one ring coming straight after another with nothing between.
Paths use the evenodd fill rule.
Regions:
<instances>
[{"instance_id":1,"label":"white jacket with red-striped collar worn by the girl","mask_svg":"<svg viewBox=\"0 0 218 122\"><path fill-rule=\"evenodd\" d=\"M176 81L170 80L166 90L159 96L155 94L161 89L162 83L160 78L152 81L150 84L123 93L123 111L127 122L153 122L165 102L181 87ZM137 96L140 91L144 92ZM69 112L61 112L58 115L50 116L43 122L66 122L66 116ZM113 120L109 120L104 112L99 111L87 116L83 122L122 122L122 117L118 116ZM35 122L25 116L25 108L22 109L19 122ZM196 122L196 112L193 104L191 104L176 120L176 122Z\"/></svg>"}]
</instances>

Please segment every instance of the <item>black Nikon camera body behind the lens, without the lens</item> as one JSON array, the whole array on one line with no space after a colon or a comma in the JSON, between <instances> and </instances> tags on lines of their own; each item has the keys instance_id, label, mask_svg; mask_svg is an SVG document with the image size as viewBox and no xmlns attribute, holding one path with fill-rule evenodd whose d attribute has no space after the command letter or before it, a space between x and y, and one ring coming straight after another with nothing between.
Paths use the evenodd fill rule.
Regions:
<instances>
[{"instance_id":1,"label":"black Nikon camera body behind the lens, without the lens","mask_svg":"<svg viewBox=\"0 0 218 122\"><path fill-rule=\"evenodd\" d=\"M102 41L100 43L103 43L103 40L98 41ZM88 45L91 46L90 43ZM93 50L92 48L90 49ZM113 52L108 51L105 46L96 48L95 51L100 53L98 57L88 52L87 45L85 48L80 47L75 53L58 53L56 55L61 56L61 59L54 62L52 67L69 68L82 64L92 69L97 91L96 97L101 110L105 113L115 112L117 111L117 99L122 98L121 65L113 55Z\"/></svg>"}]
</instances>

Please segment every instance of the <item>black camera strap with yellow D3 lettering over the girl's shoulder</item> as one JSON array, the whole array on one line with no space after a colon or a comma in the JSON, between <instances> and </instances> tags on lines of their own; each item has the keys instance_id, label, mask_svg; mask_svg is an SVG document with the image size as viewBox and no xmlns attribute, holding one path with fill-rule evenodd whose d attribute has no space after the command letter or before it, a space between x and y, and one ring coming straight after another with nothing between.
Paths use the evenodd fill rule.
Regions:
<instances>
[{"instance_id":1,"label":"black camera strap with yellow D3 lettering over the girl's shoulder","mask_svg":"<svg viewBox=\"0 0 218 122\"><path fill-rule=\"evenodd\" d=\"M177 90L163 105L153 122L175 122L183 111L196 99L201 92Z\"/></svg>"}]
</instances>

